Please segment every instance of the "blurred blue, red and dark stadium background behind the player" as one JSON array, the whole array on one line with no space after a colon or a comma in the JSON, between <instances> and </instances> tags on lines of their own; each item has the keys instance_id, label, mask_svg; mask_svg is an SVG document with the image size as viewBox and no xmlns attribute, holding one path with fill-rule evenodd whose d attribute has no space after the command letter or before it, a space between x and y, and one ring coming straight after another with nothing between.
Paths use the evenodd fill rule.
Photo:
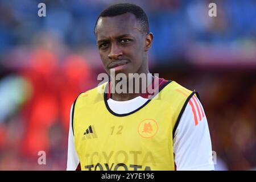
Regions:
<instances>
[{"instance_id":1,"label":"blurred blue, red and dark stadium background behind the player","mask_svg":"<svg viewBox=\"0 0 256 182\"><path fill-rule=\"evenodd\" d=\"M38 3L46 3L46 17ZM256 1L0 1L0 170L65 170L69 109L104 72L93 28L106 6L143 7L150 71L199 92L217 170L256 168ZM210 2L217 17L208 16ZM46 151L46 165L38 152Z\"/></svg>"}]
</instances>

